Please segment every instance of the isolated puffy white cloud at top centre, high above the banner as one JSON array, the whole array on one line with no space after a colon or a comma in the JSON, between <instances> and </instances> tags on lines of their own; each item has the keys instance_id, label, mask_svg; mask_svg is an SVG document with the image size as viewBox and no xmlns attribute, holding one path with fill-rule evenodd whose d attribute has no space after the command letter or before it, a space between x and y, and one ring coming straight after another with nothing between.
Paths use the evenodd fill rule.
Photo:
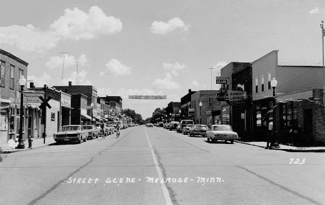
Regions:
<instances>
[{"instance_id":1,"label":"isolated puffy white cloud at top centre, high above the banner","mask_svg":"<svg viewBox=\"0 0 325 205\"><path fill-rule=\"evenodd\" d=\"M151 32L165 35L175 30L185 32L188 30L189 27L190 25L185 25L181 19L175 17L174 19L170 19L167 23L163 21L153 21L153 23L151 24Z\"/></svg>"}]
</instances>

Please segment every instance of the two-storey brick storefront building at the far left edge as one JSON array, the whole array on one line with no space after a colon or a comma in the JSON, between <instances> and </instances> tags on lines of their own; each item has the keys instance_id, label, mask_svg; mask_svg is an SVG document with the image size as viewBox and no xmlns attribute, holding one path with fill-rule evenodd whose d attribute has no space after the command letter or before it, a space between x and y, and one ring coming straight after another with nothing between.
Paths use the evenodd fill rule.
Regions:
<instances>
[{"instance_id":1,"label":"two-storey brick storefront building at the far left edge","mask_svg":"<svg viewBox=\"0 0 325 205\"><path fill-rule=\"evenodd\" d=\"M19 57L0 49L0 143L8 145L8 140L17 141L20 122L20 86L19 78L27 77L28 63ZM24 87L26 90L26 86ZM40 112L35 105L24 104L23 139L28 134L33 134L38 126L36 118ZM34 121L35 119L35 121ZM35 132L35 136L38 133Z\"/></svg>"}]
</instances>

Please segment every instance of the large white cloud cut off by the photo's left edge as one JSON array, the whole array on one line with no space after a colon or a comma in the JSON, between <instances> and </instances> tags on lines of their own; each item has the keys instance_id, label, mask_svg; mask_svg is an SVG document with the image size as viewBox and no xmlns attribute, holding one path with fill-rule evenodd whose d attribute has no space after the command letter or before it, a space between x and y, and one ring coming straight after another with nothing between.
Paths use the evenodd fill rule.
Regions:
<instances>
[{"instance_id":1,"label":"large white cloud cut off by the photo's left edge","mask_svg":"<svg viewBox=\"0 0 325 205\"><path fill-rule=\"evenodd\" d=\"M50 30L33 25L0 27L0 43L10 44L26 52L44 53L56 47L59 38Z\"/></svg>"}]
</instances>

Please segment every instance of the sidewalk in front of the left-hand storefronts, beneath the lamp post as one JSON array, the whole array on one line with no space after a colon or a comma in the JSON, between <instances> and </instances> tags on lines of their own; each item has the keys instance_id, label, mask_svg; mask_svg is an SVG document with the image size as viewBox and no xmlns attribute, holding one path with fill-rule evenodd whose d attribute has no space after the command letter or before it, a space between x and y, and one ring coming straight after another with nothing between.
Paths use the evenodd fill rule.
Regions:
<instances>
[{"instance_id":1,"label":"sidewalk in front of the left-hand storefronts, beneath the lamp post","mask_svg":"<svg viewBox=\"0 0 325 205\"><path fill-rule=\"evenodd\" d=\"M16 149L18 142L13 143L12 145L1 145L1 149L2 152L1 154L8 154L8 153L12 153L12 152L21 152L21 151L26 151L26 150L31 150L31 149L35 149L35 148L40 148L40 147L44 147L53 143L56 143L56 141L54 141L53 137L47 137L45 138L45 143L44 143L44 139L33 139L32 142L32 148L28 148L28 141L24 141L25 143L25 148L24 149Z\"/></svg>"}]
</instances>

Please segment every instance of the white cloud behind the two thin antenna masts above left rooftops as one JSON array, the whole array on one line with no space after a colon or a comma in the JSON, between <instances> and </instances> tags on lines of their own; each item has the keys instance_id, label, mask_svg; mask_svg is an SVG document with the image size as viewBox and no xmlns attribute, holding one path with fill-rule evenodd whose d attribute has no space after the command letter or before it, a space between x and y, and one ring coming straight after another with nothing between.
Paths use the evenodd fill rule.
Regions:
<instances>
[{"instance_id":1,"label":"white cloud behind the two thin antenna masts above left rooftops","mask_svg":"<svg viewBox=\"0 0 325 205\"><path fill-rule=\"evenodd\" d=\"M62 68L63 67L63 55L62 56L52 56L45 65L51 69ZM78 57L78 65L85 66L88 65L88 60L85 54ZM65 54L65 67L76 66L76 57L74 55Z\"/></svg>"}]
</instances>

